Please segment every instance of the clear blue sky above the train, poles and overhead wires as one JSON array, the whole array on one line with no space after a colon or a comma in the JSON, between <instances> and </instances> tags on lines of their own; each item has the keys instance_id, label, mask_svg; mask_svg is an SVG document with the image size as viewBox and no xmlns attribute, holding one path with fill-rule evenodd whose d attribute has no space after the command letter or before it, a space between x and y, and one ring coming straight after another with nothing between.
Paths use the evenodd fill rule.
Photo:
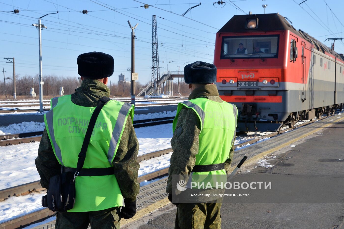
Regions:
<instances>
[{"instance_id":1,"label":"clear blue sky above the train, poles and overhead wires","mask_svg":"<svg viewBox=\"0 0 344 229\"><path fill-rule=\"evenodd\" d=\"M85 52L105 52L115 59L114 75L118 80L123 73L129 78L131 37L127 21L139 23L135 34L135 69L139 81L151 79L152 15L157 15L159 61L162 74L167 69L182 70L194 61L213 62L215 33L233 15L279 12L293 23L296 29L323 42L326 38L344 37L342 0L233 0L218 5L209 0L0 0L0 68L12 74L12 64L4 57L14 57L16 74L20 76L39 73L38 31L31 24L47 13L42 24L43 76L76 77L76 58ZM141 3L140 3L141 2ZM182 17L187 9L199 3ZM148 9L143 3L149 4ZM110 9L109 9L110 8ZM18 14L13 11L19 9ZM87 14L77 11L87 10ZM244 12L243 12L244 11ZM324 42L331 46L331 42ZM344 53L344 41L336 41L335 51Z\"/></svg>"}]
</instances>

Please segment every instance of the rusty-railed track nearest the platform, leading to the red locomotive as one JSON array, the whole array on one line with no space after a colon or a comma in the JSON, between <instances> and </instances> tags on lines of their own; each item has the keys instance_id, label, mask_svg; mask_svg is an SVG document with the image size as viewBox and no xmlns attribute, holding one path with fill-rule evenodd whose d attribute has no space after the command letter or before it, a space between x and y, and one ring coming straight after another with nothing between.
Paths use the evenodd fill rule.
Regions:
<instances>
[{"instance_id":1,"label":"rusty-railed track nearest the platform, leading to the red locomotive","mask_svg":"<svg viewBox=\"0 0 344 229\"><path fill-rule=\"evenodd\" d=\"M260 137L255 138L255 139L250 139L248 141L236 144L235 146L243 146L243 145L246 145L246 144L252 144L252 143L258 142L262 138L271 138L271 137L274 137L274 136L276 136L278 134L281 134L281 133L284 133L286 131L290 131L292 129L296 129L296 128L305 126L307 124L313 123L315 121L322 120L322 119L327 118L327 117L328 116L324 116L324 117L321 117L321 118L316 119L316 120L312 120L312 121L309 121L309 122L305 122L305 123L301 123L301 124L295 125L292 128L286 128L286 129L283 129L283 130L280 130L280 131L277 131L277 132L273 132L271 134L260 136ZM140 161L143 161L143 160L151 159L153 157L158 157L158 156L167 154L169 152L172 152L172 148L165 149L165 150L160 150L160 151L155 151L155 152L152 152L152 153L147 153L147 154L144 154L144 155L140 155L140 156L137 157L137 160L140 162ZM168 169L169 169L169 167L165 167L165 168L162 168L160 170L157 170L157 171L154 171L154 172L151 172L151 173L139 176L138 177L138 182L142 182L144 180L150 180L150 179L154 179L154 178L158 178L158 177L167 175L168 174ZM15 186L15 187L11 187L11 188L0 190L0 199L7 198L7 197L10 197L10 196L16 196L16 195L18 195L18 193L21 193L21 192L25 194L25 193L29 193L29 192L32 192L34 190L40 190L40 189L42 189L42 187L40 185L40 182L39 181L35 181L35 182L28 183L28 184L23 184L23 185L19 185L19 186ZM20 217L17 217L17 218L5 221L5 222L0 224L0 228L4 228L4 229L5 228L18 228L18 227L22 227L22 226L25 226L25 225L29 225L30 223L33 223L33 222L38 222L38 221L44 220L44 219L46 219L48 217L51 217L52 215L53 215L52 211L50 211L47 208L43 208L43 209L31 212L31 213L29 213L27 215L20 216Z\"/></svg>"}]
</instances>

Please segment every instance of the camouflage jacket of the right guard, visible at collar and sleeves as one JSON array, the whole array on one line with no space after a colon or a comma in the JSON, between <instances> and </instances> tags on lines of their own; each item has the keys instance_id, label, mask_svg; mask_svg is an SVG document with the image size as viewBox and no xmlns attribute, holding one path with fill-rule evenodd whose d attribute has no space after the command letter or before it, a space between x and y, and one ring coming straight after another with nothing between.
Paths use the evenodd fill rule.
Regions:
<instances>
[{"instance_id":1,"label":"camouflage jacket of the right guard, visible at collar and sleeves","mask_svg":"<svg viewBox=\"0 0 344 229\"><path fill-rule=\"evenodd\" d=\"M223 102L220 98L216 85L204 85L193 90L189 96L190 99L207 98L215 102ZM173 133L171 139L172 156L171 165L169 168L169 178L167 182L166 192L172 194L172 176L178 174L190 175L192 168L195 165L198 153L198 135L201 132L200 119L197 114L186 107L183 107L179 113L176 126L182 125L184 132L176 136ZM225 161L225 170L228 174L230 163L232 162L234 154L234 142L229 152L229 158Z\"/></svg>"}]
</instances>

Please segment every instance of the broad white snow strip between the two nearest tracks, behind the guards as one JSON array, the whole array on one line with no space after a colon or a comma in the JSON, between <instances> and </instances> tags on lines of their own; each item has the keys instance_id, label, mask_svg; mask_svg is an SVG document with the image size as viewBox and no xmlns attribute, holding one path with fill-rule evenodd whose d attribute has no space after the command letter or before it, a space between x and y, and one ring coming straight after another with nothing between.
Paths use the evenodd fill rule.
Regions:
<instances>
[{"instance_id":1,"label":"broad white snow strip between the two nearest tracks, behind the guards","mask_svg":"<svg viewBox=\"0 0 344 229\"><path fill-rule=\"evenodd\" d=\"M172 123L136 128L135 131L140 145L139 155L171 147ZM39 142L0 147L0 189L40 179L35 167L38 146ZM151 160L147 161L152 164L156 163L156 161ZM161 160L165 160L165 157L162 157ZM145 165L147 161L144 161ZM151 167L150 171L154 170L155 167ZM139 174L147 172L147 168L141 165Z\"/></svg>"}]
</instances>

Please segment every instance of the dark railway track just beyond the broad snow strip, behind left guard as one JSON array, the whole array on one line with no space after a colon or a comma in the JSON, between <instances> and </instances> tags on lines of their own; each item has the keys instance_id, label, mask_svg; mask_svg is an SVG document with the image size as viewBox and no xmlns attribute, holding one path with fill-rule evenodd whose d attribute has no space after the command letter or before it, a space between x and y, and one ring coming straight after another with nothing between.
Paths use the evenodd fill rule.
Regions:
<instances>
[{"instance_id":1,"label":"dark railway track just beyond the broad snow strip, behind left guard","mask_svg":"<svg viewBox=\"0 0 344 229\"><path fill-rule=\"evenodd\" d=\"M174 117L163 117L163 118L153 118L153 119L142 119L142 120L134 120L134 128L140 127L149 127L155 125L161 125L166 123L172 123ZM29 133L20 133L20 134L6 134L0 135L0 146L7 146L7 145L17 145L21 143L30 143L41 141L43 131L36 131L36 132L29 132ZM15 138L15 139L12 139Z\"/></svg>"}]
</instances>

